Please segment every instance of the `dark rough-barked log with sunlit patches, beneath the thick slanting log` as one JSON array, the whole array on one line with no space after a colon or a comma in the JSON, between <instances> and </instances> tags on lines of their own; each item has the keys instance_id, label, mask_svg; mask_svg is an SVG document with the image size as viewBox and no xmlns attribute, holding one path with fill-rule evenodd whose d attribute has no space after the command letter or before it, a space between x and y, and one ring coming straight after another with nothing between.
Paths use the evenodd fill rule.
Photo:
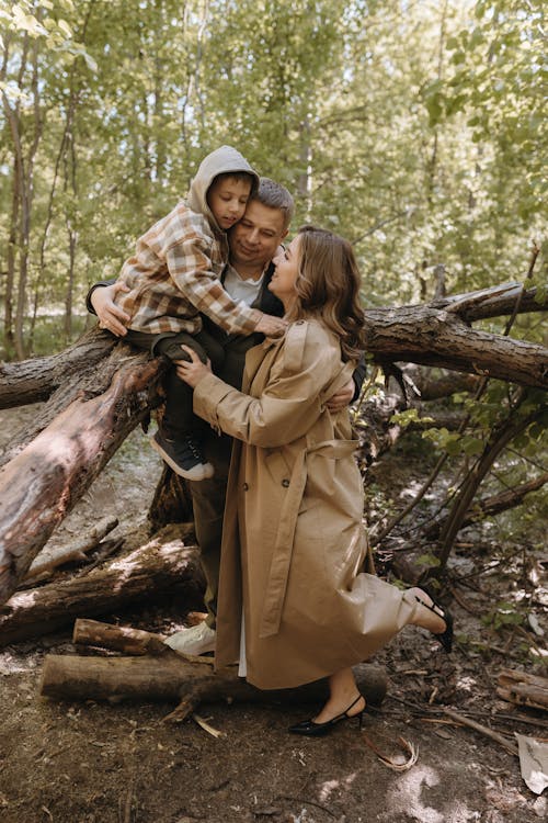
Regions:
<instances>
[{"instance_id":1,"label":"dark rough-barked log with sunlit patches, beneath the thick slanting log","mask_svg":"<svg viewBox=\"0 0 548 823\"><path fill-rule=\"evenodd\" d=\"M0 646L55 631L77 617L94 617L171 591L181 611L201 604L204 578L185 526L171 526L102 568L41 588L20 591L0 609Z\"/></svg>"}]
</instances>

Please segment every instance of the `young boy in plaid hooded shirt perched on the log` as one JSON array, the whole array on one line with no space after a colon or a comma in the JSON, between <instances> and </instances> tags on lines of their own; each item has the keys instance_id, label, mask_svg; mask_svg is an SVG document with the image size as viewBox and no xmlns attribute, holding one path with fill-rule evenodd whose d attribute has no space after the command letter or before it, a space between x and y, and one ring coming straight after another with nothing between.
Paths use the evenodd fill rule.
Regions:
<instances>
[{"instance_id":1,"label":"young boy in plaid hooded shirt perched on the log","mask_svg":"<svg viewBox=\"0 0 548 823\"><path fill-rule=\"evenodd\" d=\"M181 201L137 240L118 277L117 305L129 316L126 340L163 354L172 363L189 360L183 343L214 370L224 360L217 340L202 325L201 313L230 334L273 334L279 318L236 303L219 277L228 261L226 232L246 211L259 177L230 146L208 155ZM213 475L202 454L205 424L193 415L192 390L172 364L165 382L165 410L151 446L176 474L193 481Z\"/></svg>"}]
</instances>

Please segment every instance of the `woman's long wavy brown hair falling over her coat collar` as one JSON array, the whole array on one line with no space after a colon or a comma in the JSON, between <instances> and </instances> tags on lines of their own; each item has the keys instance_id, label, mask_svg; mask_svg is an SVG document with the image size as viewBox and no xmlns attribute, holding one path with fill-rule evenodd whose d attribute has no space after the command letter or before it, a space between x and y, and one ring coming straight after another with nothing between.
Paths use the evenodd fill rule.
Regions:
<instances>
[{"instance_id":1,"label":"woman's long wavy brown hair falling over her coat collar","mask_svg":"<svg viewBox=\"0 0 548 823\"><path fill-rule=\"evenodd\" d=\"M298 237L298 300L288 319L321 318L339 336L343 360L356 360L365 348L365 332L354 250L343 237L316 226L301 226Z\"/></svg>"}]
</instances>

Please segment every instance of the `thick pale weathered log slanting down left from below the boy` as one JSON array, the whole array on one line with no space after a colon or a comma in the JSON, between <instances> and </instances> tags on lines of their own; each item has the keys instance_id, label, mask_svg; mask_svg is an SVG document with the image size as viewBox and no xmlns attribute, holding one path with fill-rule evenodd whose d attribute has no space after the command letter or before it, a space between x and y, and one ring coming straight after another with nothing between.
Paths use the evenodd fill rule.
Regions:
<instances>
[{"instance_id":1,"label":"thick pale weathered log slanting down left from below the boy","mask_svg":"<svg viewBox=\"0 0 548 823\"><path fill-rule=\"evenodd\" d=\"M0 602L157 399L158 361L133 357L109 390L79 398L0 471Z\"/></svg>"}]
</instances>

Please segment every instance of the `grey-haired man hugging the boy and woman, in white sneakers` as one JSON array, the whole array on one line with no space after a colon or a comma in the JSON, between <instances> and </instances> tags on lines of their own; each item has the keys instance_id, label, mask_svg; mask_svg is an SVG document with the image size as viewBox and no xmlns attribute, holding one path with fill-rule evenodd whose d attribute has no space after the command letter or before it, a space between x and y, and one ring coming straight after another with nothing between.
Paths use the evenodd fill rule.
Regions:
<instances>
[{"instance_id":1,"label":"grey-haired man hugging the boy and woman, in white sneakers","mask_svg":"<svg viewBox=\"0 0 548 823\"><path fill-rule=\"evenodd\" d=\"M230 258L222 282L232 300L243 300L265 314L283 315L281 302L266 286L274 271L272 258L287 236L293 213L294 202L287 189L273 180L261 178L256 193L248 201L243 217L229 232ZM103 328L123 337L129 317L112 301L116 286L99 285L107 286L102 283L92 288L88 295L88 308L95 312ZM221 340L225 349L225 363L219 376L240 388L246 352L263 339L262 335L227 335L207 320L204 323L209 334ZM351 381L343 392L332 397L330 410L349 405L359 390L364 373L365 365L362 363L354 374L354 382ZM204 453L213 464L215 475L199 482L189 482L196 539L207 580L204 601L208 615L203 623L178 632L167 641L168 645L186 654L203 654L215 649L220 542L231 442L228 436L218 436L210 430L204 443Z\"/></svg>"}]
</instances>

